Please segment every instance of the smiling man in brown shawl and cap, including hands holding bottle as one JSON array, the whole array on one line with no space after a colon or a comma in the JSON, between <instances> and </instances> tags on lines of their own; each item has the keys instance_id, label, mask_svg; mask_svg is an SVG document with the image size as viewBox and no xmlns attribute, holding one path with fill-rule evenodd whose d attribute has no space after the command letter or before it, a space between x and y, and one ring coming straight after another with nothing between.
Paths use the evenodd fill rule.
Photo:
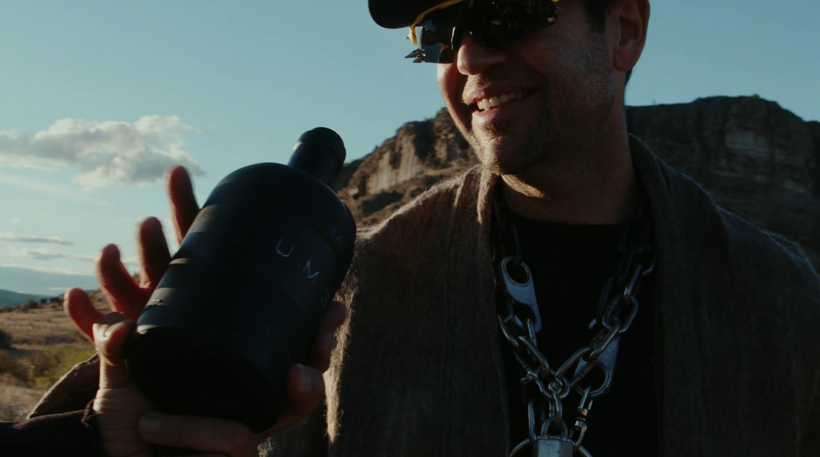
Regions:
<instances>
[{"instance_id":1,"label":"smiling man in brown shawl and cap, including hands holding bottle","mask_svg":"<svg viewBox=\"0 0 820 457\"><path fill-rule=\"evenodd\" d=\"M265 455L820 455L818 274L626 133L647 0L370 6L411 27L414 60L438 62L481 166L358 232L325 407L282 430L320 398L339 305L316 370L289 373L290 414L259 436L140 419L121 339L169 257L156 219L140 230L142 287L103 250L123 314L101 318L77 290L66 309L103 355L89 415L104 455L238 457L262 440ZM198 207L184 170L169 183L181 236Z\"/></svg>"}]
</instances>

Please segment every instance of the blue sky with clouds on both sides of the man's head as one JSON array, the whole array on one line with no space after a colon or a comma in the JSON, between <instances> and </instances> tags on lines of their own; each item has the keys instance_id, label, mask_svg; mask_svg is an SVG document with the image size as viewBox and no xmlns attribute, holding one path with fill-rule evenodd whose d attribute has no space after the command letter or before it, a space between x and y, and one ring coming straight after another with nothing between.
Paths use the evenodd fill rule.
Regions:
<instances>
[{"instance_id":1,"label":"blue sky with clouds on both sides of the man's head","mask_svg":"<svg viewBox=\"0 0 820 457\"><path fill-rule=\"evenodd\" d=\"M820 2L651 3L628 104L756 93L820 120ZM52 273L35 285L0 269L0 288L57 294L53 273L91 287L107 242L134 260L137 221L168 218L170 163L199 170L202 202L241 166L287 161L307 129L335 129L352 160L444 106L435 66L403 60L405 31L373 24L365 0L0 11L0 268ZM90 143L107 155L82 155Z\"/></svg>"}]
</instances>

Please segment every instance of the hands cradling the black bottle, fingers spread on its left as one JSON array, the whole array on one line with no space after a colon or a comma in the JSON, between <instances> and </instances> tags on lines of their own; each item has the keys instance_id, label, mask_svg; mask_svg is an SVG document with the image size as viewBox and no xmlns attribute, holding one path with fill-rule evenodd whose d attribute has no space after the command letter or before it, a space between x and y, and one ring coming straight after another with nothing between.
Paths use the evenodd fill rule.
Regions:
<instances>
[{"instance_id":1,"label":"hands cradling the black bottle, fingers spread on its left","mask_svg":"<svg viewBox=\"0 0 820 457\"><path fill-rule=\"evenodd\" d=\"M176 239L181 242L199 208L185 168L172 167L166 176L171 220ZM347 310L339 301L331 302L328 307L313 342L310 366L290 367L286 380L290 401L270 429L255 434L243 423L230 420L158 414L156 406L131 381L122 360L125 338L133 331L134 321L171 260L158 219L148 218L139 225L137 251L139 284L122 265L116 246L108 245L101 253L97 278L114 312L103 315L79 288L66 292L64 302L66 314L80 333L94 343L100 357L100 387L93 409L104 455L148 457L151 455L149 443L231 457L256 455L259 443L316 409L324 398L321 373L330 366L330 352L335 346L333 334L347 318ZM145 417L148 413L151 414ZM153 432L149 427L151 418L159 419L159 427Z\"/></svg>"}]
</instances>

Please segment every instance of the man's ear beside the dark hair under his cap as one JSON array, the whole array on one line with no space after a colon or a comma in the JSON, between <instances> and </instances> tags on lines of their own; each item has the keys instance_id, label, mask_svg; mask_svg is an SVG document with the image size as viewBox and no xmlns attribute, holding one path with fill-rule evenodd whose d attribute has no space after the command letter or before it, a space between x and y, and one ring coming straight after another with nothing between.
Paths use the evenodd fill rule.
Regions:
<instances>
[{"instance_id":1,"label":"man's ear beside the dark hair under his cap","mask_svg":"<svg viewBox=\"0 0 820 457\"><path fill-rule=\"evenodd\" d=\"M646 43L649 25L649 0L621 0L607 17L612 31L613 70L626 72L638 63Z\"/></svg>"}]
</instances>

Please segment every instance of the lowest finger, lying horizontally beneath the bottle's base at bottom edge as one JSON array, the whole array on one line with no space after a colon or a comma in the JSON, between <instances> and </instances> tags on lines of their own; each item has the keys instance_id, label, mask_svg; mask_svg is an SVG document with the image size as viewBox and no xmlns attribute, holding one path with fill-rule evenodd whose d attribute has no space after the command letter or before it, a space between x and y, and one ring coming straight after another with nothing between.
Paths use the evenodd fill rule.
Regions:
<instances>
[{"instance_id":1,"label":"lowest finger, lying horizontally beneath the bottle's base at bottom edge","mask_svg":"<svg viewBox=\"0 0 820 457\"><path fill-rule=\"evenodd\" d=\"M257 455L257 436L244 423L182 414L145 414L139 435L162 446L187 447L230 457Z\"/></svg>"}]
</instances>

